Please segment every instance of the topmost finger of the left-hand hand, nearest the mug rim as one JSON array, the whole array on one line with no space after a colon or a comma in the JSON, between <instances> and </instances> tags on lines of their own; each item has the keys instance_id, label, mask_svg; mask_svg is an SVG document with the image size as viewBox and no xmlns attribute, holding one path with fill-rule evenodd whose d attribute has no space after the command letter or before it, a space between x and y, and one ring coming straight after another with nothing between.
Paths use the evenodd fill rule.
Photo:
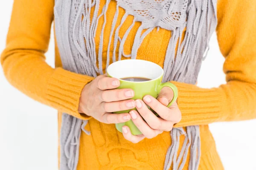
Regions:
<instances>
[{"instance_id":1,"label":"topmost finger of the left-hand hand, nearest the mug rim","mask_svg":"<svg viewBox=\"0 0 256 170\"><path fill-rule=\"evenodd\" d=\"M108 90L119 87L119 79L113 77L107 77L105 74L98 76L96 80L96 87L100 90Z\"/></svg>"}]
</instances>

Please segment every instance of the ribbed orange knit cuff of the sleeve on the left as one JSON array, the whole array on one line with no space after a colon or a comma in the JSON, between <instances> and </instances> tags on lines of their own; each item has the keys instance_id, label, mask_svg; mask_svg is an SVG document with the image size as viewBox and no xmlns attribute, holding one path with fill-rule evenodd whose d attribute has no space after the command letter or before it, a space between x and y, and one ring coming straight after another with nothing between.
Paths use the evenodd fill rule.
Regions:
<instances>
[{"instance_id":1,"label":"ribbed orange knit cuff of the sleeve on the left","mask_svg":"<svg viewBox=\"0 0 256 170\"><path fill-rule=\"evenodd\" d=\"M89 119L89 116L78 112L78 107L82 89L93 79L94 77L56 68L48 82L47 100L63 113L83 120Z\"/></svg>"}]
</instances>

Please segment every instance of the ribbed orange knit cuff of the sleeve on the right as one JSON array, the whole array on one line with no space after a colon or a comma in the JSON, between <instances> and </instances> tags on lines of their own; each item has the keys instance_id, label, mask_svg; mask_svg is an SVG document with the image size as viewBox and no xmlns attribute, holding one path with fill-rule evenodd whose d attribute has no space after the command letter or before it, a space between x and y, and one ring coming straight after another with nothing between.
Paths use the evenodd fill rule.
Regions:
<instances>
[{"instance_id":1,"label":"ribbed orange knit cuff of the sleeve on the right","mask_svg":"<svg viewBox=\"0 0 256 170\"><path fill-rule=\"evenodd\" d=\"M175 127L204 125L225 119L227 109L222 102L226 99L220 88L199 88L196 85L172 82L178 88L177 104L182 119Z\"/></svg>"}]
</instances>

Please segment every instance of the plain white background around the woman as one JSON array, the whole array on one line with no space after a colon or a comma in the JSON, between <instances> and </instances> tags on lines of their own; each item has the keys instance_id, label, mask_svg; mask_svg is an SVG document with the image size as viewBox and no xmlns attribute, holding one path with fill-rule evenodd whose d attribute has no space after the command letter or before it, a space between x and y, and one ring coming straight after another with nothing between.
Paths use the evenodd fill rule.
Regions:
<instances>
[{"instance_id":1,"label":"plain white background around the woman","mask_svg":"<svg viewBox=\"0 0 256 170\"><path fill-rule=\"evenodd\" d=\"M5 47L12 3L0 2L0 51ZM53 38L46 56L53 66ZM224 84L223 62L214 34L198 86ZM210 130L226 170L256 170L256 120L214 123ZM0 170L57 170L57 136L57 111L13 88L0 68Z\"/></svg>"}]
</instances>

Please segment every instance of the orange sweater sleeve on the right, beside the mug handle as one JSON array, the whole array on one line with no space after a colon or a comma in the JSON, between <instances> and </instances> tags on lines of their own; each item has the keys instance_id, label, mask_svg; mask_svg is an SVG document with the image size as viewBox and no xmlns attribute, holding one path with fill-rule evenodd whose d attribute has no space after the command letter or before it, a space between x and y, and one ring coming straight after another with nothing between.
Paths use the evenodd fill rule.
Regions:
<instances>
[{"instance_id":1,"label":"orange sweater sleeve on the right, beside the mug handle","mask_svg":"<svg viewBox=\"0 0 256 170\"><path fill-rule=\"evenodd\" d=\"M182 113L176 127L256 118L255 11L256 1L218 0L216 32L227 83L205 89L173 82Z\"/></svg>"}]
</instances>

